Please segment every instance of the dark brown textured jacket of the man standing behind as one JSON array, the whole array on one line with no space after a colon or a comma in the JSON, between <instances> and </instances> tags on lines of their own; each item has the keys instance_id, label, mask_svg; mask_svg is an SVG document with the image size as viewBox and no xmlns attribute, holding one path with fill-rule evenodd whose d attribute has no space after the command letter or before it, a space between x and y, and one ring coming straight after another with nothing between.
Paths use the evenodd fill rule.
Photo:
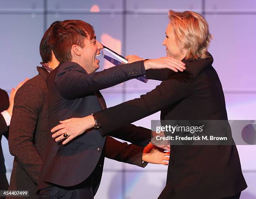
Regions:
<instances>
[{"instance_id":1,"label":"dark brown textured jacket of the man standing behind","mask_svg":"<svg viewBox=\"0 0 256 199\"><path fill-rule=\"evenodd\" d=\"M38 176L43 163L44 152L47 140L51 139L51 133L48 128L48 92L46 86L46 77L49 74L43 67L37 67L38 75L29 79L18 89L15 94L13 107L13 116L10 124L9 149L14 156L13 171L10 178L9 190L29 190L29 197L26 199L38 198L36 194ZM116 135L115 135L116 134ZM145 134L146 135L146 134ZM118 132L114 136L122 139ZM146 135L150 138L150 133ZM126 136L126 140L137 145L145 145L144 136L131 135ZM136 140L133 140L133 139ZM120 143L114 139L106 145L108 158L117 161L128 160L138 166L138 159L134 159L140 147ZM140 141L141 140L141 141ZM137 142L137 143L136 143ZM116 145L119 150L113 150L111 145ZM115 149L115 148L114 148ZM16 198L16 197L9 197Z\"/></svg>"}]
</instances>

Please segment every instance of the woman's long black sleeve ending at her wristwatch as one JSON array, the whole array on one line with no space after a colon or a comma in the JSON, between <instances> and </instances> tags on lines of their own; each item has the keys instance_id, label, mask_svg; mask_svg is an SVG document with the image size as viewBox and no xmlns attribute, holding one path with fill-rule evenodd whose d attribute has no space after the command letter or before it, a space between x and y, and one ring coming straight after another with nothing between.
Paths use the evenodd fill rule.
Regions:
<instances>
[{"instance_id":1,"label":"woman's long black sleeve ending at her wristwatch","mask_svg":"<svg viewBox=\"0 0 256 199\"><path fill-rule=\"evenodd\" d=\"M100 134L105 136L113 130L152 115L189 96L192 92L191 83L183 79L184 74L177 74L175 77L177 79L161 82L154 90L141 95L140 98L94 113L101 124Z\"/></svg>"}]
</instances>

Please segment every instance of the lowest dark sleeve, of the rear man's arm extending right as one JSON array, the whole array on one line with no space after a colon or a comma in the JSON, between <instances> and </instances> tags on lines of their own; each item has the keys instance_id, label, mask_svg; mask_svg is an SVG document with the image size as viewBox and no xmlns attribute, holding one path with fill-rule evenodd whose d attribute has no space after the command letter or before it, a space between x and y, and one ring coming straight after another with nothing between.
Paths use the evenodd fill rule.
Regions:
<instances>
[{"instance_id":1,"label":"lowest dark sleeve, of the rear man's arm extending right","mask_svg":"<svg viewBox=\"0 0 256 199\"><path fill-rule=\"evenodd\" d=\"M105 157L116 161L145 167L142 161L143 147L133 144L121 143L110 136L106 139Z\"/></svg>"}]
</instances>

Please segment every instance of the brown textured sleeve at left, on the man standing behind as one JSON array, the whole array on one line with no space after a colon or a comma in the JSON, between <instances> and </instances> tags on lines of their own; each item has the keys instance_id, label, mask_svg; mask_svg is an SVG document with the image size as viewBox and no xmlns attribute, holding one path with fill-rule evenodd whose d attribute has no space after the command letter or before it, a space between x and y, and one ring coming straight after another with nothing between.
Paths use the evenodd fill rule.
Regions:
<instances>
[{"instance_id":1,"label":"brown textured sleeve at left, on the man standing behind","mask_svg":"<svg viewBox=\"0 0 256 199\"><path fill-rule=\"evenodd\" d=\"M15 94L9 130L9 150L31 180L37 184L43 161L33 145L33 134L44 103L46 88L35 90L29 84L30 82L26 82ZM38 87L40 86L38 84Z\"/></svg>"}]
</instances>

